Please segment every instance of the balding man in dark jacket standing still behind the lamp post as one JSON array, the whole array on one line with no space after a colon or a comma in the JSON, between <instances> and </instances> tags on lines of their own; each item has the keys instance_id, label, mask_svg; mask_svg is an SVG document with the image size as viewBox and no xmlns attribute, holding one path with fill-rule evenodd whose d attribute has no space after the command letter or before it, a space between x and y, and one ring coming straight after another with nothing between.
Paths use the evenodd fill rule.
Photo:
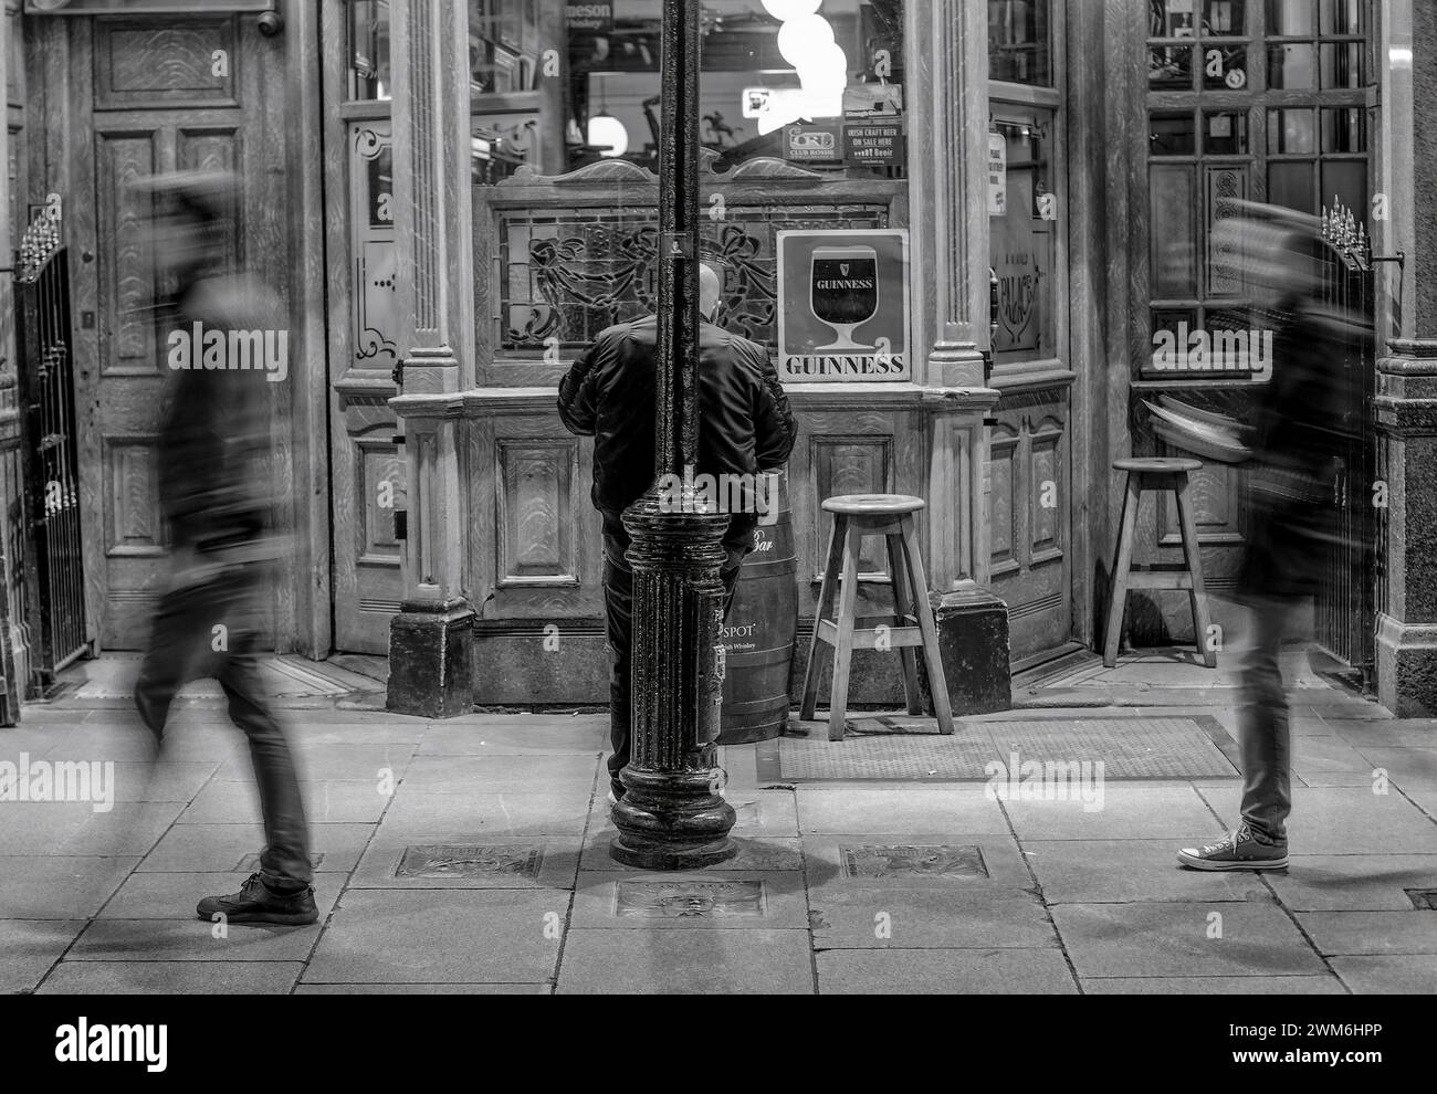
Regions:
<instances>
[{"instance_id":1,"label":"balding man in dark jacket standing still behind the lamp post","mask_svg":"<svg viewBox=\"0 0 1437 1094\"><path fill-rule=\"evenodd\" d=\"M703 314L698 359L698 467L714 481L752 484L762 471L787 462L798 438L787 396L767 352L713 324L721 297L718 273L704 264L698 277ZM609 722L609 800L624 795L619 771L629 759L629 650L634 626L634 574L625 551L624 510L654 484L654 389L658 322L652 316L602 332L559 383L559 418L569 432L593 438L593 507L604 517L604 609L612 668ZM740 497L724 536L720 579L733 603L739 567L753 548L759 498L754 490L720 490Z\"/></svg>"}]
</instances>

